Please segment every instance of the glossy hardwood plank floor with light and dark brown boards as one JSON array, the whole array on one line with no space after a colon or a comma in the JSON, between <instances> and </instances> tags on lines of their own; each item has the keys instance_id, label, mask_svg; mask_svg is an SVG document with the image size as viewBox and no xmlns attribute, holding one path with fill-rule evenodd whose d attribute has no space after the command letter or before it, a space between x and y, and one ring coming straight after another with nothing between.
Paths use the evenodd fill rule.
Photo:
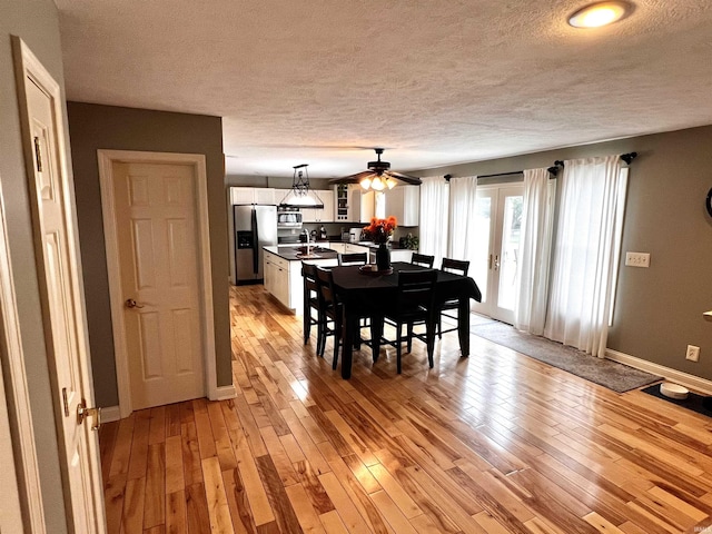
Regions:
<instances>
[{"instance_id":1,"label":"glossy hardwood plank floor with light and dark brown boards","mask_svg":"<svg viewBox=\"0 0 712 534\"><path fill-rule=\"evenodd\" d=\"M100 431L110 533L701 532L712 421L455 333L343 380L263 286L231 288L237 398ZM711 531L712 532L712 531Z\"/></svg>"}]
</instances>

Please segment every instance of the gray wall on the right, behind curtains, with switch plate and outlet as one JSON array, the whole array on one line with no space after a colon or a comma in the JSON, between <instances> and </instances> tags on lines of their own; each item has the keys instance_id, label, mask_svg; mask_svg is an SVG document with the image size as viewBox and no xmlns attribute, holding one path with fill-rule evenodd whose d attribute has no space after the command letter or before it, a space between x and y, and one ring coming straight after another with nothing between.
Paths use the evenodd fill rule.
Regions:
<instances>
[{"instance_id":1,"label":"gray wall on the right, behind curtains, with switch plate and outlet","mask_svg":"<svg viewBox=\"0 0 712 534\"><path fill-rule=\"evenodd\" d=\"M428 169L418 176L488 175L636 151L630 171L623 251L651 254L647 269L619 267L609 348L712 379L712 126L512 158ZM700 362L685 360L688 345Z\"/></svg>"}]
</instances>

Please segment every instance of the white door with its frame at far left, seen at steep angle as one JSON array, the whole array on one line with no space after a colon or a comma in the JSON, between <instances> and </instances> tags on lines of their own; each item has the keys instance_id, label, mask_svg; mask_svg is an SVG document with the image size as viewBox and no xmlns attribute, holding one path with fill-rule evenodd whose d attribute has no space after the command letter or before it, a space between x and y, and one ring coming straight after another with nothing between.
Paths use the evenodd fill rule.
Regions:
<instances>
[{"instance_id":1,"label":"white door with its frame at far left, seen at steep angle","mask_svg":"<svg viewBox=\"0 0 712 534\"><path fill-rule=\"evenodd\" d=\"M65 165L62 103L59 86L39 60L16 39L16 61L26 164L30 181L34 241L43 325L50 355L55 414L62 451L69 531L103 533L105 512L99 468L98 413L80 417L93 403L83 287L75 215L73 185Z\"/></svg>"}]
</instances>

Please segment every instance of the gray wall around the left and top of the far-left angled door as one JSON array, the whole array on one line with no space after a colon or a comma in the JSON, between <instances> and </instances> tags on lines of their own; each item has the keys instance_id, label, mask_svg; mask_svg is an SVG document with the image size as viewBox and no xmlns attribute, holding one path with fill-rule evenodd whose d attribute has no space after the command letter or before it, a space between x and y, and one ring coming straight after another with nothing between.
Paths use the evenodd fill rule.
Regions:
<instances>
[{"instance_id":1,"label":"gray wall around the left and top of the far-left angled door","mask_svg":"<svg viewBox=\"0 0 712 534\"><path fill-rule=\"evenodd\" d=\"M22 158L11 34L24 40L63 88L59 22L52 0L2 0L0 3L0 180L7 209L10 259L19 308L20 336L27 362L47 531L63 533L67 532L67 525L34 264L28 180ZM67 130L67 125L63 126ZM69 158L69 154L67 157ZM3 374L6 377L9 374L7 362L3 362Z\"/></svg>"}]
</instances>

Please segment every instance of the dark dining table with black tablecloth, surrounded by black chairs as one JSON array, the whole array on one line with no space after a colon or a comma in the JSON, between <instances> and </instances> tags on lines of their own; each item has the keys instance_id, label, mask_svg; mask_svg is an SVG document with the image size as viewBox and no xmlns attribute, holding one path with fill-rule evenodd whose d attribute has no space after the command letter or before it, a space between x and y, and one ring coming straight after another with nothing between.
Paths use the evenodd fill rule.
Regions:
<instances>
[{"instance_id":1,"label":"dark dining table with black tablecloth, surrounded by black chairs","mask_svg":"<svg viewBox=\"0 0 712 534\"><path fill-rule=\"evenodd\" d=\"M360 317L372 317L372 350L377 355L380 349L383 333L383 310L386 303L393 303L398 291L398 271L416 270L423 267L394 263L390 274L365 274L359 266L334 267L334 286L336 296L344 306L344 348L342 356L342 377L350 378L353 348ZM469 299L481 301L482 294L475 280L468 276L454 273L437 271L435 283L436 309L446 300L458 300L458 316L469 316ZM469 356L469 320L458 322L457 334L463 357Z\"/></svg>"}]
</instances>

